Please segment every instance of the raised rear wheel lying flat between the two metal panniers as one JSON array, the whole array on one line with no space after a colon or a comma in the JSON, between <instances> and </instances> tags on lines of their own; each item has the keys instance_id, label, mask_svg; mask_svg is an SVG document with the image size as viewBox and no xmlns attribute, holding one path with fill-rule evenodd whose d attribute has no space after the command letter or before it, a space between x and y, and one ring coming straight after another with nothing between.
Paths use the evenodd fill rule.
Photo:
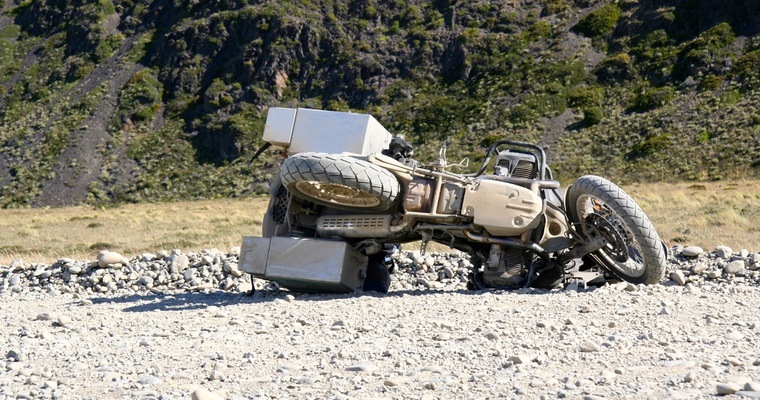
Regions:
<instances>
[{"instance_id":1,"label":"raised rear wheel lying flat between the two metal panniers","mask_svg":"<svg viewBox=\"0 0 760 400\"><path fill-rule=\"evenodd\" d=\"M280 177L295 196L351 211L386 210L400 191L398 179L390 171L336 154L295 154L283 162Z\"/></svg>"}]
</instances>

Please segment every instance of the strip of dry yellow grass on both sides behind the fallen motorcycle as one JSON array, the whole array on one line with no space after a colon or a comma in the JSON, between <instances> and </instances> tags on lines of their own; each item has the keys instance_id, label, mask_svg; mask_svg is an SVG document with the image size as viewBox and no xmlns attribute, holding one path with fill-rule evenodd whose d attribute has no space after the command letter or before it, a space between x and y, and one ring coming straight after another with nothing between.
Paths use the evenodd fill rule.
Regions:
<instances>
[{"instance_id":1,"label":"strip of dry yellow grass on both sides behind the fallen motorcycle","mask_svg":"<svg viewBox=\"0 0 760 400\"><path fill-rule=\"evenodd\" d=\"M760 250L760 181L635 184L624 189L669 245ZM0 210L0 264L94 259L101 249L126 256L205 248L228 250L261 232L266 198Z\"/></svg>"}]
</instances>

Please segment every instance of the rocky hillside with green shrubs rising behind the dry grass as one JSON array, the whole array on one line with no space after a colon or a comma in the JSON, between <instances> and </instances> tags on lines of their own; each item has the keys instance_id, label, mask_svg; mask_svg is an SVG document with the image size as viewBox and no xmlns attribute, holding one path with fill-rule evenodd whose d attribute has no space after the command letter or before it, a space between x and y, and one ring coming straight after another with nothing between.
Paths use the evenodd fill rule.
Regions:
<instances>
[{"instance_id":1,"label":"rocky hillside with green shrubs rising behind the dry grass","mask_svg":"<svg viewBox=\"0 0 760 400\"><path fill-rule=\"evenodd\" d=\"M505 134L563 179L760 169L751 0L0 0L0 205L243 196L270 106L369 112L421 158Z\"/></svg>"}]
</instances>

